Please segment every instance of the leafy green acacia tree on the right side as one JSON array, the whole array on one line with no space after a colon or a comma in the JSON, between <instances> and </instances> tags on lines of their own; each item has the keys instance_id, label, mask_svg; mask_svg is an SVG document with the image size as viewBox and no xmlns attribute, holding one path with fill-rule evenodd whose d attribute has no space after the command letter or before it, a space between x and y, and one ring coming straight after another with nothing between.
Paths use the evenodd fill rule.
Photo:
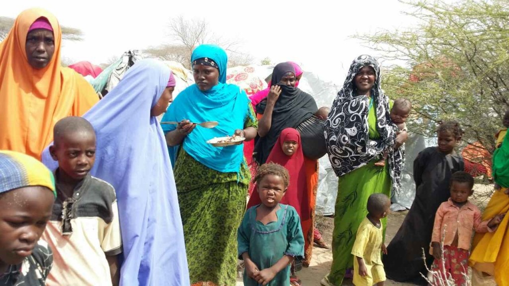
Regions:
<instances>
[{"instance_id":1,"label":"leafy green acacia tree on the right side","mask_svg":"<svg viewBox=\"0 0 509 286\"><path fill-rule=\"evenodd\" d=\"M413 28L355 36L399 63L385 71L386 94L413 102L420 118L410 123L415 132L432 135L434 122L455 119L466 141L492 151L509 107L509 3L405 3L418 23Z\"/></svg>"}]
</instances>

